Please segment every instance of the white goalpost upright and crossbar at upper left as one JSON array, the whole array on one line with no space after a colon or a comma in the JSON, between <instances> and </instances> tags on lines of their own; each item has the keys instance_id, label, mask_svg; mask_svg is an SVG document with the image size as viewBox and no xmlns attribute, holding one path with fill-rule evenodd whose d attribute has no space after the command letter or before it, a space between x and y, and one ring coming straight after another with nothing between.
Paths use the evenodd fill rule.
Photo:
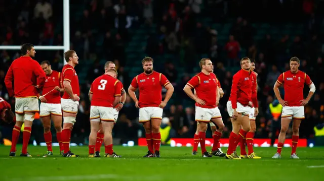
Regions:
<instances>
[{"instance_id":1,"label":"white goalpost upright and crossbar at upper left","mask_svg":"<svg viewBox=\"0 0 324 181\"><path fill-rule=\"evenodd\" d=\"M70 49L70 0L63 1L63 46L34 46L35 50L64 50ZM26 42L27 43L27 42ZM2 46L1 50L20 50L20 46ZM64 55L63 55L64 57ZM64 59L64 58L63 58ZM64 61L64 65L66 61Z\"/></svg>"}]
</instances>

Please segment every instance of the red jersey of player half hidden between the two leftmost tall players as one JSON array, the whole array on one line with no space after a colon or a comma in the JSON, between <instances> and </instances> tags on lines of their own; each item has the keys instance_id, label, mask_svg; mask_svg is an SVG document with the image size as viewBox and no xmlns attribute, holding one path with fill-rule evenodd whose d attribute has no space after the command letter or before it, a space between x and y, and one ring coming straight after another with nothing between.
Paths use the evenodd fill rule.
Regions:
<instances>
[{"instance_id":1,"label":"red jersey of player half hidden between the two leftmost tall players","mask_svg":"<svg viewBox=\"0 0 324 181\"><path fill-rule=\"evenodd\" d=\"M53 90L56 86L61 87L61 73L57 71L52 71L50 75L46 75L45 84L43 88L43 95L45 96L47 103L59 104L61 103L61 93L60 91ZM52 91L53 90L53 91Z\"/></svg>"}]
</instances>

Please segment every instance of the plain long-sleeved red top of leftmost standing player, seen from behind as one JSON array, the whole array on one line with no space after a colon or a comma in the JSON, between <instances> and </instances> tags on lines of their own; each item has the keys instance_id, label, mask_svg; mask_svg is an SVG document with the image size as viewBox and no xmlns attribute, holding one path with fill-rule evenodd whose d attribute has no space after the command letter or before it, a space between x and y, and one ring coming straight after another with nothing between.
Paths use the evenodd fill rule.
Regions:
<instances>
[{"instance_id":1,"label":"plain long-sleeved red top of leftmost standing player, seen from behind","mask_svg":"<svg viewBox=\"0 0 324 181\"><path fill-rule=\"evenodd\" d=\"M38 62L34 61L30 56L21 56L14 60L11 64L14 77L14 91L16 97L36 96L37 76L35 70L39 66ZM40 68L40 66L39 66ZM38 68L38 69L39 69ZM43 72L43 77L45 73Z\"/></svg>"}]
</instances>

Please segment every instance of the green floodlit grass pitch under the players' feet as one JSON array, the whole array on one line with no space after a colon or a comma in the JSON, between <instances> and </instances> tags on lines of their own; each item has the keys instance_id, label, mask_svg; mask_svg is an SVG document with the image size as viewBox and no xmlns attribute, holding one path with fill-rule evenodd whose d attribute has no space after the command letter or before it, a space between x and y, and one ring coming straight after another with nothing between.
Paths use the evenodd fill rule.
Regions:
<instances>
[{"instance_id":1,"label":"green floodlit grass pitch under the players' feet","mask_svg":"<svg viewBox=\"0 0 324 181\"><path fill-rule=\"evenodd\" d=\"M324 180L324 148L298 148L299 160L289 158L291 148L283 149L280 160L271 159L276 148L256 148L260 160L202 158L192 156L188 147L163 146L161 158L142 158L145 147L115 146L123 158L88 158L86 146L71 148L79 158L63 158L58 147L53 149L54 156L43 158L46 147L30 145L33 157L27 158L19 156L17 146L19 153L11 158L10 147L0 146L0 180Z\"/></svg>"}]
</instances>

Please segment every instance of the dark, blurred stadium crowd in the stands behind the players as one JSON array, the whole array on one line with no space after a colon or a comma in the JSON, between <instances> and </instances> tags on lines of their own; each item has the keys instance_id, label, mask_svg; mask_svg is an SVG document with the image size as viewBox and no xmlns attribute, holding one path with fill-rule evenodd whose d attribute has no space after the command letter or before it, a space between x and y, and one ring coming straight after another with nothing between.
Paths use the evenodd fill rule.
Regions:
<instances>
[{"instance_id":1,"label":"dark, blurred stadium crowd in the stands behind the players","mask_svg":"<svg viewBox=\"0 0 324 181\"><path fill-rule=\"evenodd\" d=\"M256 138L271 137L272 116L268 107L275 98L273 85L280 73L289 70L291 56L298 56L301 59L300 70L311 77L318 90L305 106L306 119L301 125L300 138L312 138L314 126L323 123L324 16L323 12L318 11L324 8L323 1L269 0L256 1L252 4L225 0L85 0L82 2L80 4L80 1L70 0L70 12L75 13L75 17L70 16L70 35L71 49L74 49L80 58L80 65L75 68L76 72L83 71L82 64L92 62L86 80L83 80L83 84L80 85L80 104L72 133L74 138L82 138L83 143L87 143L86 138L90 133L89 87L91 82L104 72L99 60L104 58L106 61L113 61L118 71L118 79L123 82L125 88L128 88L133 77L125 71L128 67L125 48L131 39L131 32L136 31L136 28L142 24L147 27L157 25L155 32L147 32L149 36L147 40L143 37L143 41L147 41L148 55L154 58L160 54L171 53L175 57L184 57L185 74L179 74L177 71L176 62L180 61L180 58L167 62L163 69L159 68L173 84L177 95L172 97L170 105L164 110L164 117L169 118L169 123L168 121L166 123L172 126L174 137L192 138L196 130L194 102L185 95L183 87L192 74L199 72L197 69L199 59L196 57L200 54L208 54L215 64L214 73L225 93L220 100L219 108L225 124L223 137L228 138L231 124L225 105L232 84L231 68L238 67L242 49L247 50L248 57L256 60L255 71L258 73L260 105L260 113L256 119ZM4 7L0 9L0 15L4 17L4 21L0 23L2 45L20 45L24 42L34 45L62 45L61 1L0 1L0 4ZM260 8L254 9L253 6ZM269 7L277 9L278 13L275 15L271 13L273 16L268 16L269 11L273 10ZM199 21L204 17L211 17L212 22L217 23L233 22L228 42L224 44L218 42L218 30ZM287 22L301 23L304 33L293 37L293 42L289 40L292 39L290 34L275 39L271 37L270 32L266 33L261 40L256 40L254 36L258 29L252 26L255 22L278 26ZM103 41L101 48L97 48L97 41ZM62 54L62 51L37 51L36 49L35 59L38 62L50 61L53 70L61 71ZM19 57L18 51L2 50L0 59L0 96L9 100L12 105L14 99L9 99L4 77L8 67L17 57ZM307 95L308 88L304 91L304 95ZM129 96L118 119L113 130L114 138L132 139L144 136L144 130L138 123L138 109ZM36 127L33 130L39 129L39 132L43 130L39 120L34 122L33 127ZM1 126L0 132L4 137L11 138L11 131L11 126ZM37 142L42 141L42 133L33 132L33 134ZM207 134L207 137L211 137L211 134Z\"/></svg>"}]
</instances>

